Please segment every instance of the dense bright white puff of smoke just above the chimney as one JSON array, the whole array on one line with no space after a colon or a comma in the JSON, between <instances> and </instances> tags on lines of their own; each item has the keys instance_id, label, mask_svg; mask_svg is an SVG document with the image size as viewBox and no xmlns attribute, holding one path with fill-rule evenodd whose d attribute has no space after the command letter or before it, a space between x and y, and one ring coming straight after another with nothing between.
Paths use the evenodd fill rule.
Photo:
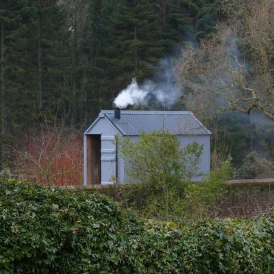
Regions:
<instances>
[{"instance_id":1,"label":"dense bright white puff of smoke just above the chimney","mask_svg":"<svg viewBox=\"0 0 274 274\"><path fill-rule=\"evenodd\" d=\"M128 105L140 105L144 103L148 93L149 90L140 88L136 82L136 78L133 78L132 83L116 97L114 104L118 108L127 108Z\"/></svg>"}]
</instances>

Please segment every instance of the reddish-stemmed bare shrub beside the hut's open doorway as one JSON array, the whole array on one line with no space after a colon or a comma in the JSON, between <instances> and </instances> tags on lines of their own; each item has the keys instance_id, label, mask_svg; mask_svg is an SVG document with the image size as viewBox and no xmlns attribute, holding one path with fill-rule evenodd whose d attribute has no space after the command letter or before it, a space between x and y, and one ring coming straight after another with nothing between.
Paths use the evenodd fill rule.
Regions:
<instances>
[{"instance_id":1,"label":"reddish-stemmed bare shrub beside the hut's open doorway","mask_svg":"<svg viewBox=\"0 0 274 274\"><path fill-rule=\"evenodd\" d=\"M46 185L82 184L83 146L76 134L51 129L27 138L16 150L15 167L25 179Z\"/></svg>"}]
</instances>

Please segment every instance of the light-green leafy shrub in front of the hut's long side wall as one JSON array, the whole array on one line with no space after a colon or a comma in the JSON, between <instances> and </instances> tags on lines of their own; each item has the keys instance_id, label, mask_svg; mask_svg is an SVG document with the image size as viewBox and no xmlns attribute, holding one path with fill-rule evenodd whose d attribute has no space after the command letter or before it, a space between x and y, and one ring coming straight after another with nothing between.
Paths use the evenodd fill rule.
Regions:
<instances>
[{"instance_id":1,"label":"light-green leafy shrub in front of the hut's long side wall","mask_svg":"<svg viewBox=\"0 0 274 274\"><path fill-rule=\"evenodd\" d=\"M183 182L201 175L203 146L193 142L181 149L177 137L166 131L140 134L137 142L118 136L117 141L127 164L127 180L138 183L132 190L147 190L146 199L140 200L149 204L148 214L173 214L181 198Z\"/></svg>"}]
</instances>

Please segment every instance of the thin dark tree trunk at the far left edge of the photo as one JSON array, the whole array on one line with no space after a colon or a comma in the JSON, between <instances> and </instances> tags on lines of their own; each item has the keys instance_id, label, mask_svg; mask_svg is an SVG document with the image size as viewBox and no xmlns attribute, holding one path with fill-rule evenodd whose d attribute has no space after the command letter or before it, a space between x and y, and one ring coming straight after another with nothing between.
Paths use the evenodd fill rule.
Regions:
<instances>
[{"instance_id":1,"label":"thin dark tree trunk at the far left edge of the photo","mask_svg":"<svg viewBox=\"0 0 274 274\"><path fill-rule=\"evenodd\" d=\"M3 167L3 161L5 160L5 83L4 83L4 54L5 54L5 40L4 40L4 24L1 23L1 103L0 103L0 167Z\"/></svg>"}]
</instances>

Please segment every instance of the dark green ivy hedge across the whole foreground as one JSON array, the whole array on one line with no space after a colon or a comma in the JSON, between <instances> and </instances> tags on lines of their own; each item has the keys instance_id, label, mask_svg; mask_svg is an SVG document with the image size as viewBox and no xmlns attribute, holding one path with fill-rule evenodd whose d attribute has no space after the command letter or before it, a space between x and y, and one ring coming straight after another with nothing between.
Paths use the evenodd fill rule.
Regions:
<instances>
[{"instance_id":1,"label":"dark green ivy hedge across the whole foreground","mask_svg":"<svg viewBox=\"0 0 274 274\"><path fill-rule=\"evenodd\" d=\"M162 223L111 199L0 182L0 273L274 273L274 215Z\"/></svg>"}]
</instances>

